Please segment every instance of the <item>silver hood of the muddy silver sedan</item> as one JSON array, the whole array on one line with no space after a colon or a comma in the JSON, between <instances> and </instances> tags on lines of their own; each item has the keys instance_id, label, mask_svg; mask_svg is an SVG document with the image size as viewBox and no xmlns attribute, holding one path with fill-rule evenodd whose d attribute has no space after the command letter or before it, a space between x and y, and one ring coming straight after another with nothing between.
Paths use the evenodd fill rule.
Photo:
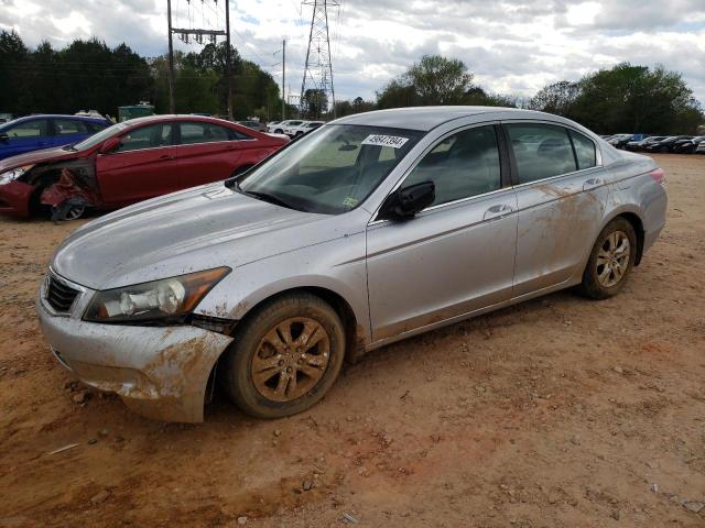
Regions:
<instances>
[{"instance_id":1,"label":"silver hood of the muddy silver sedan","mask_svg":"<svg viewBox=\"0 0 705 528\"><path fill-rule=\"evenodd\" d=\"M85 224L58 248L52 268L91 289L239 265L322 241L301 229L332 217L268 204L223 183L148 200Z\"/></svg>"}]
</instances>

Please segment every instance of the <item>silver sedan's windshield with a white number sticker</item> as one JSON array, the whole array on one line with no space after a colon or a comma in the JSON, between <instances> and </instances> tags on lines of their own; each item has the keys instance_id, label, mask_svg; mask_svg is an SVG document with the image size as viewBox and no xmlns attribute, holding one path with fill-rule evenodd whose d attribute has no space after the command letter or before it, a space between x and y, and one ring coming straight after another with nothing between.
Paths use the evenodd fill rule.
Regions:
<instances>
[{"instance_id":1,"label":"silver sedan's windshield with a white number sticker","mask_svg":"<svg viewBox=\"0 0 705 528\"><path fill-rule=\"evenodd\" d=\"M322 127L241 176L236 188L291 209L339 215L362 202L422 135L355 124Z\"/></svg>"}]
</instances>

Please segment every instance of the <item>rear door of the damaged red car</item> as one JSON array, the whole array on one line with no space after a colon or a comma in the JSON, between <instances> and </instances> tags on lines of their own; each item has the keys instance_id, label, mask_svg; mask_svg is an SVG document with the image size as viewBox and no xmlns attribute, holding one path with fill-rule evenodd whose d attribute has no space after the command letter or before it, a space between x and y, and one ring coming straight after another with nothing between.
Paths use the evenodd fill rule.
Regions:
<instances>
[{"instance_id":1,"label":"rear door of the damaged red car","mask_svg":"<svg viewBox=\"0 0 705 528\"><path fill-rule=\"evenodd\" d=\"M178 174L184 187L232 176L243 164L243 152L260 144L253 136L207 121L178 123Z\"/></svg>"}]
</instances>

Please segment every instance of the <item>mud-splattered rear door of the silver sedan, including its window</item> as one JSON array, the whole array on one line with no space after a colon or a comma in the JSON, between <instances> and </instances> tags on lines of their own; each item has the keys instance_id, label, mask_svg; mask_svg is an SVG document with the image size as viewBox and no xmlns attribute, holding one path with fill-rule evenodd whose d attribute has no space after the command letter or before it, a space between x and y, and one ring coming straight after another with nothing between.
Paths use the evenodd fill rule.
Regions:
<instances>
[{"instance_id":1,"label":"mud-splattered rear door of the silver sedan, including its window","mask_svg":"<svg viewBox=\"0 0 705 528\"><path fill-rule=\"evenodd\" d=\"M536 122L503 128L519 208L513 297L520 297L582 274L610 187L586 135Z\"/></svg>"}]
</instances>

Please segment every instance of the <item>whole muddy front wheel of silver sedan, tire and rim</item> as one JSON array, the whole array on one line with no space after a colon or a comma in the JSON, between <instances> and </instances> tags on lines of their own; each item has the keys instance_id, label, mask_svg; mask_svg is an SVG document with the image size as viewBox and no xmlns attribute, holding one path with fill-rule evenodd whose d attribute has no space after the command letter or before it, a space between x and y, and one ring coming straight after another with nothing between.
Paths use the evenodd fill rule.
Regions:
<instances>
[{"instance_id":1,"label":"whole muddy front wheel of silver sedan, tire and rim","mask_svg":"<svg viewBox=\"0 0 705 528\"><path fill-rule=\"evenodd\" d=\"M221 380L247 415L281 418L323 398L344 356L344 326L336 311L314 295L290 294L267 302L236 328Z\"/></svg>"}]
</instances>

